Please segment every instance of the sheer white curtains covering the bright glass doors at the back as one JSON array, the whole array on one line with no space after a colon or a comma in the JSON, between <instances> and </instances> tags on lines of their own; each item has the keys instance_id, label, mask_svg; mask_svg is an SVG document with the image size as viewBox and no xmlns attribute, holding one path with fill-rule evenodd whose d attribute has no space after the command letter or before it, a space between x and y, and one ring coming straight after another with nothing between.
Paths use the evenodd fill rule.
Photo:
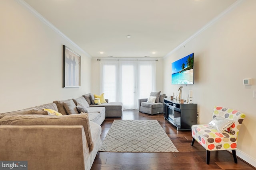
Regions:
<instances>
[{"instance_id":1,"label":"sheer white curtains covering the bright glass doors at the back","mask_svg":"<svg viewBox=\"0 0 256 170\"><path fill-rule=\"evenodd\" d=\"M123 109L138 109L138 99L156 90L156 61L102 60L101 92Z\"/></svg>"}]
</instances>

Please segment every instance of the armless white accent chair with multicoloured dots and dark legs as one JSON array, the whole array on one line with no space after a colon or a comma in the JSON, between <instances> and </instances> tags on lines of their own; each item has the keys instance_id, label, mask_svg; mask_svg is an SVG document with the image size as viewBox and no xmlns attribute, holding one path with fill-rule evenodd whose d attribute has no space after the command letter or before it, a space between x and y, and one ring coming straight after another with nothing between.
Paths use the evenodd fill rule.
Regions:
<instances>
[{"instance_id":1,"label":"armless white accent chair with multicoloured dots and dark legs","mask_svg":"<svg viewBox=\"0 0 256 170\"><path fill-rule=\"evenodd\" d=\"M210 163L210 151L232 150L234 162L237 163L237 136L245 114L224 107L214 107L212 121L208 125L192 125L192 143L198 141L206 149L206 163ZM226 124L222 120L226 120Z\"/></svg>"}]
</instances>

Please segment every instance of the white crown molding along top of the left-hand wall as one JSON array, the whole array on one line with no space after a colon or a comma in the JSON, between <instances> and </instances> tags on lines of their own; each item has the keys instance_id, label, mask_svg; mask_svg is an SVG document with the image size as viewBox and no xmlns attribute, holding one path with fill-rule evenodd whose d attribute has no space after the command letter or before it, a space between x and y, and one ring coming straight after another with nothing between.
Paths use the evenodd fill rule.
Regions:
<instances>
[{"instance_id":1,"label":"white crown molding along top of the left-hand wall","mask_svg":"<svg viewBox=\"0 0 256 170\"><path fill-rule=\"evenodd\" d=\"M62 33L58 28L56 28L50 21L46 20L39 12L37 12L34 8L32 8L30 5L28 5L24 0L16 0L21 6L26 8L30 13L32 13L34 16L36 16L38 19L40 19L44 24L48 25L51 29L53 29L56 33L58 33L60 36L62 36L66 41L68 41L70 44L74 45L77 49L82 51L87 57L92 58L86 51L84 51L81 47L79 47L74 41L72 41L70 38L68 38L64 33Z\"/></svg>"}]
</instances>

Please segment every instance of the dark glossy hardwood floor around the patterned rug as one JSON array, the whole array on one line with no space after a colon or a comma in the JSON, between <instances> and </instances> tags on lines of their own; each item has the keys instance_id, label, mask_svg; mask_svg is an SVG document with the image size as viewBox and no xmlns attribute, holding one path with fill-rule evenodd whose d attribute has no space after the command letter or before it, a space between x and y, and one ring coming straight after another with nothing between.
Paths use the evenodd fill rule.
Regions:
<instances>
[{"instance_id":1,"label":"dark glossy hardwood floor around the patterned rug","mask_svg":"<svg viewBox=\"0 0 256 170\"><path fill-rule=\"evenodd\" d=\"M106 117L102 123L102 141L114 119L157 119L179 152L175 153L134 153L98 152L91 170L252 170L256 169L226 150L212 151L210 164L206 164L206 150L197 142L190 145L191 131L177 131L176 127L164 120L163 114L148 115L138 110L124 110L123 117Z\"/></svg>"}]
</instances>

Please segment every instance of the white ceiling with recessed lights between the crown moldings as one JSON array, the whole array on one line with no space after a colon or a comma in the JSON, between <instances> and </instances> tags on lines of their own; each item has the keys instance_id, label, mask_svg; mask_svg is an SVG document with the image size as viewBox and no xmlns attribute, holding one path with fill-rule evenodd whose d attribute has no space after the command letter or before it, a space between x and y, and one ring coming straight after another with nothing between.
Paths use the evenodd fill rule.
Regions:
<instances>
[{"instance_id":1,"label":"white ceiling with recessed lights between the crown moldings","mask_svg":"<svg viewBox=\"0 0 256 170\"><path fill-rule=\"evenodd\" d=\"M164 57L236 0L24 0L91 57ZM126 38L131 35L131 38ZM102 51L104 54L100 54ZM156 51L156 54L152 54Z\"/></svg>"}]
</instances>

